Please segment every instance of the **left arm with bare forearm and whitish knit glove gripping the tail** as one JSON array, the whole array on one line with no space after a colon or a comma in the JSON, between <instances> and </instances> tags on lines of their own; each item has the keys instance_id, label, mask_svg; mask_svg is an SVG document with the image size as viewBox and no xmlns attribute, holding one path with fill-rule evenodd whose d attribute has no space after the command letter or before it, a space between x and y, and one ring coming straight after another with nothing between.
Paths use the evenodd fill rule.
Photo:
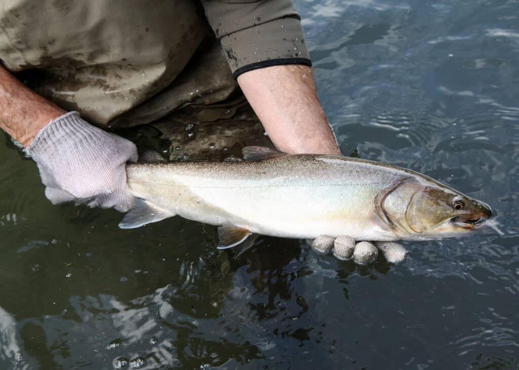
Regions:
<instances>
[{"instance_id":1,"label":"left arm with bare forearm and whitish knit glove gripping the tail","mask_svg":"<svg viewBox=\"0 0 519 370\"><path fill-rule=\"evenodd\" d=\"M0 128L32 156L53 204L132 207L125 164L137 159L135 145L35 94L2 66Z\"/></svg>"}]
</instances>

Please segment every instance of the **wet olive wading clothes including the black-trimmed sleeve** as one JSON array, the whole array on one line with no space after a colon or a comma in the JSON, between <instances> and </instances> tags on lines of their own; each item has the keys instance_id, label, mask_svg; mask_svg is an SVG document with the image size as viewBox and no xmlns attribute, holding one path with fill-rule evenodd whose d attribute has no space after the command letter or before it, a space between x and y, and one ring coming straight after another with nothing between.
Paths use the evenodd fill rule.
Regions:
<instances>
[{"instance_id":1,"label":"wet olive wading clothes including the black-trimmed sleeve","mask_svg":"<svg viewBox=\"0 0 519 370\"><path fill-rule=\"evenodd\" d=\"M236 77L268 65L310 64L291 0L2 3L6 68L30 70L37 93L98 126L154 123L174 148L183 141L186 154L200 149L187 148L195 136L188 137L189 124L234 122L200 129L202 146L229 147L250 135L256 140L242 144L265 144Z\"/></svg>"}]
</instances>

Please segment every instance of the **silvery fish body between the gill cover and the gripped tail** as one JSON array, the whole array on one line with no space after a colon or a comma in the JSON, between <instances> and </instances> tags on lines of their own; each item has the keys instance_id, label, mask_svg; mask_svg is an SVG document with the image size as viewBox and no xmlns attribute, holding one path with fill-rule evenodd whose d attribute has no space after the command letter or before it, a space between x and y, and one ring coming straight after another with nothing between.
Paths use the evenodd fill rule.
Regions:
<instances>
[{"instance_id":1,"label":"silvery fish body between the gill cover and the gripped tail","mask_svg":"<svg viewBox=\"0 0 519 370\"><path fill-rule=\"evenodd\" d=\"M331 155L251 162L129 164L130 192L169 216L291 238L398 240L375 198L408 172ZM166 216L168 217L168 216Z\"/></svg>"}]
</instances>

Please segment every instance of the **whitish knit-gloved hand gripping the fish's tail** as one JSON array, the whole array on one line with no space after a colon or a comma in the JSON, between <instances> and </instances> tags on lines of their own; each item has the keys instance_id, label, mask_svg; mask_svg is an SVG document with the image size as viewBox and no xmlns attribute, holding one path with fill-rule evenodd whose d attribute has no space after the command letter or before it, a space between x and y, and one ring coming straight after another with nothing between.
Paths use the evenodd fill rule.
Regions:
<instances>
[{"instance_id":1,"label":"whitish knit-gloved hand gripping the fish's tail","mask_svg":"<svg viewBox=\"0 0 519 370\"><path fill-rule=\"evenodd\" d=\"M25 152L31 155L52 204L74 201L126 212L133 196L125 164L138 159L135 145L90 125L69 112L38 132Z\"/></svg>"}]
</instances>

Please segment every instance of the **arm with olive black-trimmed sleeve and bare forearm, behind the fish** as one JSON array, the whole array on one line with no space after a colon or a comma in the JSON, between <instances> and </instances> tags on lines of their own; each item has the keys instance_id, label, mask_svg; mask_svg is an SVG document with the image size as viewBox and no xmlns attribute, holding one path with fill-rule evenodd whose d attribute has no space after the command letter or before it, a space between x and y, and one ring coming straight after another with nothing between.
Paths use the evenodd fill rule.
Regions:
<instances>
[{"instance_id":1,"label":"arm with olive black-trimmed sleeve and bare forearm, behind the fish","mask_svg":"<svg viewBox=\"0 0 519 370\"><path fill-rule=\"evenodd\" d=\"M213 0L202 5L272 143L288 153L340 154L317 98L292 1Z\"/></svg>"}]
</instances>

